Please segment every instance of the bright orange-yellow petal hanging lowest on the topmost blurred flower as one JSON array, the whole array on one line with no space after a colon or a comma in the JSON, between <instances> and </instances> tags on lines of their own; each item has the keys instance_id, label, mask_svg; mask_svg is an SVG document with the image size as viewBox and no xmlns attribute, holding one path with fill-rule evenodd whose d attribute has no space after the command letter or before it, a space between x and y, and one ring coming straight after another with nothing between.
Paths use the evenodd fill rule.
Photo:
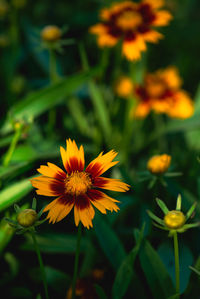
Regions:
<instances>
[{"instance_id":1,"label":"bright orange-yellow petal hanging lowest on the topmost blurred flower","mask_svg":"<svg viewBox=\"0 0 200 299\"><path fill-rule=\"evenodd\" d=\"M122 53L128 60L138 60L141 52L146 50L145 40L142 35L137 35L134 40L124 40L122 44Z\"/></svg>"}]
</instances>

